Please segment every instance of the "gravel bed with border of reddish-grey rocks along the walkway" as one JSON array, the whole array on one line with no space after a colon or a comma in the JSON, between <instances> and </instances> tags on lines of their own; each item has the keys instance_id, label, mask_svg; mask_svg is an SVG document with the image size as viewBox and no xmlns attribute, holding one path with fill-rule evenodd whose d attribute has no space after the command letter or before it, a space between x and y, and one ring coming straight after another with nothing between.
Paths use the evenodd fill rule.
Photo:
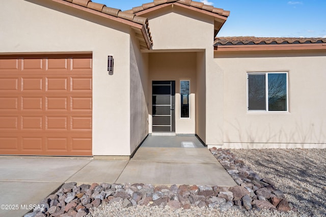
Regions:
<instances>
[{"instance_id":1,"label":"gravel bed with border of reddish-grey rocks along the walkway","mask_svg":"<svg viewBox=\"0 0 326 217\"><path fill-rule=\"evenodd\" d=\"M238 184L66 183L25 216L325 216L326 149L210 149Z\"/></svg>"}]
</instances>

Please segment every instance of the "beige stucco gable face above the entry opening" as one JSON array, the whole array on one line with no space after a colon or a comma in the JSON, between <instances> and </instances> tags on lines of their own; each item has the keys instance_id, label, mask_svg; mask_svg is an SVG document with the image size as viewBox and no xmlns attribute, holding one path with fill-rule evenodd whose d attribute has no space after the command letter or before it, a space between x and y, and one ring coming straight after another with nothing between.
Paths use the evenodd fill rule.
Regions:
<instances>
[{"instance_id":1,"label":"beige stucco gable face above the entry opening","mask_svg":"<svg viewBox=\"0 0 326 217\"><path fill-rule=\"evenodd\" d=\"M154 41L153 50L198 49L208 44L212 48L214 19L208 15L170 5L146 17Z\"/></svg>"}]
</instances>

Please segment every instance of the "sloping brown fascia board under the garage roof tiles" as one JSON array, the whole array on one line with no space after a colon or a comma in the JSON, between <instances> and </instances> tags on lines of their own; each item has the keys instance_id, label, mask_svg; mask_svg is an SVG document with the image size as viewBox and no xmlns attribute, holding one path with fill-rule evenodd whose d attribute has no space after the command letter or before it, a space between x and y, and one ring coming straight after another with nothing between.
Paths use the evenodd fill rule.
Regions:
<instances>
[{"instance_id":1,"label":"sloping brown fascia board under the garage roof tiles","mask_svg":"<svg viewBox=\"0 0 326 217\"><path fill-rule=\"evenodd\" d=\"M88 12L88 13L91 13L91 14L95 14L95 15L100 16L100 17L111 19L111 20L114 20L114 21L129 25L129 26L132 26L132 27L135 27L135 28L142 29L142 27L143 27L143 25L141 25L139 23L135 23L135 22L132 22L132 21L129 21L129 20L125 20L125 19L122 19L120 17L115 17L115 16L112 16L112 15L104 14L102 12L95 11L95 10L90 9L90 8L85 8L83 6L72 4L72 3L69 3L69 2L65 2L65 1L62 1L62 0L49 0L49 1L56 2L56 3L61 4L61 5L66 5L68 7L72 7L72 8L78 9L78 10L82 10L82 11L85 11L85 12Z\"/></svg>"}]
</instances>

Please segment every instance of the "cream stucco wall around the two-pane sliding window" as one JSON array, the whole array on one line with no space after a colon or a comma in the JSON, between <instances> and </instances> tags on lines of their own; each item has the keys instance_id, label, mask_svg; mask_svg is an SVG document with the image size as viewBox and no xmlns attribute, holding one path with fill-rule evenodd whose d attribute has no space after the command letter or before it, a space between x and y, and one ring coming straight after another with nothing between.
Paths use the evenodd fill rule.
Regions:
<instances>
[{"instance_id":1,"label":"cream stucco wall around the two-pane sliding window","mask_svg":"<svg viewBox=\"0 0 326 217\"><path fill-rule=\"evenodd\" d=\"M215 57L224 70L225 147L326 147L325 52ZM247 72L288 72L289 111L247 111Z\"/></svg>"}]
</instances>

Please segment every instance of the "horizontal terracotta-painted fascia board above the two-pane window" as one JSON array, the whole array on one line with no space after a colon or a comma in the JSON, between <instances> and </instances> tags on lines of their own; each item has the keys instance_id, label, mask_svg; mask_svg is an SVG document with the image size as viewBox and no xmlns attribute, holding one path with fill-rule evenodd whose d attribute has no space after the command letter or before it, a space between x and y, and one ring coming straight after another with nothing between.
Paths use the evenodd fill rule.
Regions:
<instances>
[{"instance_id":1,"label":"horizontal terracotta-painted fascia board above the two-pane window","mask_svg":"<svg viewBox=\"0 0 326 217\"><path fill-rule=\"evenodd\" d=\"M279 45L218 45L215 52L223 51L273 51L273 50L322 50L326 44L279 44Z\"/></svg>"}]
</instances>

